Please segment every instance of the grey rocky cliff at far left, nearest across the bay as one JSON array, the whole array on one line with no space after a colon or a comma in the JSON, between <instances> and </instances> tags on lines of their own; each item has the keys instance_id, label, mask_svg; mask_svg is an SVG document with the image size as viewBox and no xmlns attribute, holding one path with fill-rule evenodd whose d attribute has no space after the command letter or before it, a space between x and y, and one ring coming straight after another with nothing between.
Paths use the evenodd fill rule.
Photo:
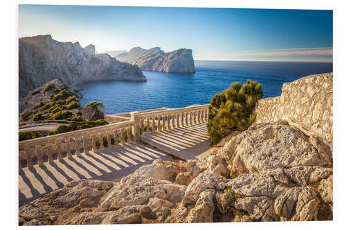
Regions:
<instances>
[{"instance_id":1,"label":"grey rocky cliff at far left, nearest across the bay","mask_svg":"<svg viewBox=\"0 0 346 230\"><path fill-rule=\"evenodd\" d=\"M19 39L19 97L52 79L75 86L94 80L146 81L137 66L107 54L95 55L95 46L60 42L51 35Z\"/></svg>"}]
</instances>

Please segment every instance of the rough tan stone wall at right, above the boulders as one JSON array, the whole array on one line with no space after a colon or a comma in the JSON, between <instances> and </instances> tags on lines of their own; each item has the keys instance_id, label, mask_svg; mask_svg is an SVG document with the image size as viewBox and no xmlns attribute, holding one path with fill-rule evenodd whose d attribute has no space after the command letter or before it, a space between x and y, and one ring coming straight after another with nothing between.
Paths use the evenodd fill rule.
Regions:
<instances>
[{"instance_id":1,"label":"rough tan stone wall at right, above the boulders","mask_svg":"<svg viewBox=\"0 0 346 230\"><path fill-rule=\"evenodd\" d=\"M310 75L284 83L282 94L260 99L256 123L280 119L333 143L333 73Z\"/></svg>"}]
</instances>

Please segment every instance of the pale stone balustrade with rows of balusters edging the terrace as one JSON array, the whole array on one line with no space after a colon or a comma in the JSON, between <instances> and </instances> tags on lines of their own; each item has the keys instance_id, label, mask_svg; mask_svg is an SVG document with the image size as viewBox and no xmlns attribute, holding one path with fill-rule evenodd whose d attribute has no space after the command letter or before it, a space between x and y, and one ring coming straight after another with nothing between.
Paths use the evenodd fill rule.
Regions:
<instances>
[{"instance_id":1,"label":"pale stone balustrade with rows of balusters edging the terrace","mask_svg":"<svg viewBox=\"0 0 346 230\"><path fill-rule=\"evenodd\" d=\"M71 158L73 154L80 156L95 149L137 142L143 133L207 122L208 106L131 112L128 121L19 142L19 170L23 161L26 161L28 168L33 164L41 166L45 160L51 164L54 157L63 160L64 157Z\"/></svg>"}]
</instances>

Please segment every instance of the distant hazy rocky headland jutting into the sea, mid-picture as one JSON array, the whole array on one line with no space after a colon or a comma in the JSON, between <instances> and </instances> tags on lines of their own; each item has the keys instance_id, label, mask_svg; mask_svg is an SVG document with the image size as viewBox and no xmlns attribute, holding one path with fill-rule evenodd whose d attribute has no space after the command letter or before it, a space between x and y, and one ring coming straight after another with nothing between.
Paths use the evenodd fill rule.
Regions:
<instances>
[{"instance_id":1,"label":"distant hazy rocky headland jutting into the sea, mid-picture","mask_svg":"<svg viewBox=\"0 0 346 230\"><path fill-rule=\"evenodd\" d=\"M127 61L145 71L166 73L195 72L194 59L192 57L192 50L190 49L179 49L165 53L159 47L149 50L136 47L127 53L117 55L116 59Z\"/></svg>"}]
</instances>

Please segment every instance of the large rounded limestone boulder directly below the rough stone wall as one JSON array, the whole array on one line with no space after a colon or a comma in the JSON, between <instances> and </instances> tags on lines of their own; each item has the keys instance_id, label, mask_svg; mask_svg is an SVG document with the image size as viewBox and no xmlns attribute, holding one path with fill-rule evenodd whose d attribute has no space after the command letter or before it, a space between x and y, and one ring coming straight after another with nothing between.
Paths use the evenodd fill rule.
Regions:
<instances>
[{"instance_id":1,"label":"large rounded limestone boulder directly below the rough stone wall","mask_svg":"<svg viewBox=\"0 0 346 230\"><path fill-rule=\"evenodd\" d=\"M331 156L325 157L326 152L318 151L310 140L286 122L262 123L233 137L224 148L235 154L232 171L237 175L278 167L331 166Z\"/></svg>"}]
</instances>

